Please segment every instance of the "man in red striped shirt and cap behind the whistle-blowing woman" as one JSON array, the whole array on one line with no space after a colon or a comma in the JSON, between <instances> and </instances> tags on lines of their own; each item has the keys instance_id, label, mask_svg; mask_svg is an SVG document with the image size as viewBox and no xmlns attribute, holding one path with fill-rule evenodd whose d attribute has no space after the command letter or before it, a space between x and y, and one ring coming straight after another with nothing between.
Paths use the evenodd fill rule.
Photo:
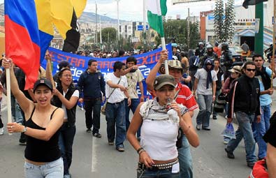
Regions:
<instances>
[{"instance_id":1,"label":"man in red striped shirt and cap behind the whistle-blowing woman","mask_svg":"<svg viewBox=\"0 0 276 178\"><path fill-rule=\"evenodd\" d=\"M157 75L157 71L162 71L160 69L162 68L166 59L168 59L168 53L166 51L162 51L159 61L154 66L154 68L152 68L150 74L147 75L147 91L150 91L154 97L156 96L154 92L154 79ZM168 73L172 75L175 78L175 82L177 82L175 89L179 91L179 93L175 101L186 106L189 110L190 116L193 117L194 110L196 110L198 106L189 88L186 85L180 83L180 78L183 73L183 68L180 64L180 61L169 60ZM187 136L184 135L183 131L180 130L180 134L177 136L177 151L180 161L180 177L190 178L193 177L193 159L191 157L190 144L188 141L189 140L187 140Z\"/></svg>"}]
</instances>

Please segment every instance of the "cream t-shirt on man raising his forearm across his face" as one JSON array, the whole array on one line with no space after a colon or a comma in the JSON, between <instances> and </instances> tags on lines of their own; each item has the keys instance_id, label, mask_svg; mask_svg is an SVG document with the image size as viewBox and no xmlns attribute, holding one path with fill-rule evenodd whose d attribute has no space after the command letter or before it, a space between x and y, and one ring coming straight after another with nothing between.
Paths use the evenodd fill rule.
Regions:
<instances>
[{"instance_id":1,"label":"cream t-shirt on man raising his forearm across his face","mask_svg":"<svg viewBox=\"0 0 276 178\"><path fill-rule=\"evenodd\" d=\"M127 79L127 92L131 98L138 98L136 86L137 82L142 82L144 77L139 69L137 69L134 73L126 73Z\"/></svg>"}]
</instances>

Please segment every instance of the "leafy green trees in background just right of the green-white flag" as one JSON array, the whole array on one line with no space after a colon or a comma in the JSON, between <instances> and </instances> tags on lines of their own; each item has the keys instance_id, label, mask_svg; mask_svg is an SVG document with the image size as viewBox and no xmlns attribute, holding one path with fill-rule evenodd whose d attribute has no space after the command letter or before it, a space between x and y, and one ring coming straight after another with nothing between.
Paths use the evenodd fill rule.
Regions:
<instances>
[{"instance_id":1,"label":"leafy green trees in background just right of the green-white flag","mask_svg":"<svg viewBox=\"0 0 276 178\"><path fill-rule=\"evenodd\" d=\"M198 40L200 39L198 23L190 22L189 27L190 48L196 48ZM167 20L164 22L164 33L166 43L187 44L187 20Z\"/></svg>"}]
</instances>

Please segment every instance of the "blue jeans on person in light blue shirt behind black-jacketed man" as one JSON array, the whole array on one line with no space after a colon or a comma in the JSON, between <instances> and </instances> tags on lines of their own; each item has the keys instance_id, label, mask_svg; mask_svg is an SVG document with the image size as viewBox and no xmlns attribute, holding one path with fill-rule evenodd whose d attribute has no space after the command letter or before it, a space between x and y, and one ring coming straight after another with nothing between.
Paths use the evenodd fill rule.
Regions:
<instances>
[{"instance_id":1,"label":"blue jeans on person in light blue shirt behind black-jacketed man","mask_svg":"<svg viewBox=\"0 0 276 178\"><path fill-rule=\"evenodd\" d=\"M259 146L259 158L266 157L266 142L263 140L263 135L266 134L270 126L271 110L270 105L261 106L261 122L256 124L256 142Z\"/></svg>"}]
</instances>

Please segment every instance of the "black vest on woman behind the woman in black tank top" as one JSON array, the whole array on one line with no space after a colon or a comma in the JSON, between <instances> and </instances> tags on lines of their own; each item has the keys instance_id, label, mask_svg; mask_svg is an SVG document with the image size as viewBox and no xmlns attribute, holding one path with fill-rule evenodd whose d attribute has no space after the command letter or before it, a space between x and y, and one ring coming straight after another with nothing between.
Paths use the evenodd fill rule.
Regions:
<instances>
[{"instance_id":1,"label":"black vest on woman behind the woman in black tank top","mask_svg":"<svg viewBox=\"0 0 276 178\"><path fill-rule=\"evenodd\" d=\"M58 84L57 85L57 90L63 94L64 91L62 90L62 87ZM67 93L65 94L65 98L67 100L70 100L71 96L73 95L75 91L75 87L73 87L73 84L70 85L70 87L68 88ZM57 106L57 107L61 107L62 103L59 100L59 98L57 96L54 96L52 98L52 103L53 105ZM75 126L75 109L77 107L77 103L75 103L75 105L71 108L71 110L68 110L66 108L66 113L67 113L67 117L68 117L68 125L69 126Z\"/></svg>"}]
</instances>

